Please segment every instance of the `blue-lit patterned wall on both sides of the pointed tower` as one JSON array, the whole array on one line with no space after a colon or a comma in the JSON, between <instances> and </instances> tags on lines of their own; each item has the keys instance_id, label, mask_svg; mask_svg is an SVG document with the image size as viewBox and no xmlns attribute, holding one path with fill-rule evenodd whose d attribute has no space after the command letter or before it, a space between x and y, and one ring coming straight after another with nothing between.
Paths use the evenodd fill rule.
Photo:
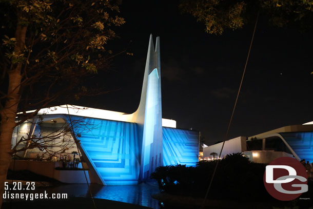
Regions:
<instances>
[{"instance_id":1,"label":"blue-lit patterned wall on both sides of the pointed tower","mask_svg":"<svg viewBox=\"0 0 313 209\"><path fill-rule=\"evenodd\" d=\"M79 116L68 116L80 147L103 184L137 184L141 153L138 124ZM71 119L71 120L70 120ZM199 132L163 127L163 159L159 154L149 162L150 169L162 165L198 162ZM151 156L151 155L148 155Z\"/></svg>"}]
</instances>

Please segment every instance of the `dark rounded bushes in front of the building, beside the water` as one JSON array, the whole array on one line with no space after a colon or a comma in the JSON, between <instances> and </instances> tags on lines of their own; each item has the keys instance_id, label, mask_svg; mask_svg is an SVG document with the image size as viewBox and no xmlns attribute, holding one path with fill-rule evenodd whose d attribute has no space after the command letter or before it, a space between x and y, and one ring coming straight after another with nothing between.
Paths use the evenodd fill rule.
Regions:
<instances>
[{"instance_id":1,"label":"dark rounded bushes in front of the building, beside the water","mask_svg":"<svg viewBox=\"0 0 313 209\"><path fill-rule=\"evenodd\" d=\"M195 167L161 166L151 174L169 194L204 197L218 161L200 161ZM263 185L265 164L253 163L239 154L220 160L209 197L239 201L264 201L270 196Z\"/></svg>"}]
</instances>

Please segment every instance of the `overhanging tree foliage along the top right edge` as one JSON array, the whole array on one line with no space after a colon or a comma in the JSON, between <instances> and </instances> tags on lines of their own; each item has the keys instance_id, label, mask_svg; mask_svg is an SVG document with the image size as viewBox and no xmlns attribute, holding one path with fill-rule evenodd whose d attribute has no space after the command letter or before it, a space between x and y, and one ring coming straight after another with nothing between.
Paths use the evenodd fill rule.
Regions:
<instances>
[{"instance_id":1,"label":"overhanging tree foliage along the top right edge","mask_svg":"<svg viewBox=\"0 0 313 209\"><path fill-rule=\"evenodd\" d=\"M254 21L260 12L269 22L278 27L296 26L304 30L312 27L313 1L259 0L183 0L180 9L189 13L197 21L203 22L206 32L222 34L225 29L242 28L250 20Z\"/></svg>"}]
</instances>

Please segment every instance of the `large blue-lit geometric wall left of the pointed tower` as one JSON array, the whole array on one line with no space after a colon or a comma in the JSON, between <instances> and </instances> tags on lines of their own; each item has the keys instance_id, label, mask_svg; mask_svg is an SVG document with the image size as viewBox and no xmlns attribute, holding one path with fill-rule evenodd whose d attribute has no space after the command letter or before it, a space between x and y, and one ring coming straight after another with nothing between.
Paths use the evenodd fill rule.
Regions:
<instances>
[{"instance_id":1,"label":"large blue-lit geometric wall left of the pointed tower","mask_svg":"<svg viewBox=\"0 0 313 209\"><path fill-rule=\"evenodd\" d=\"M73 125L80 133L81 147L107 185L137 184L140 170L140 147L135 123L95 118ZM81 122L80 122L81 123Z\"/></svg>"}]
</instances>

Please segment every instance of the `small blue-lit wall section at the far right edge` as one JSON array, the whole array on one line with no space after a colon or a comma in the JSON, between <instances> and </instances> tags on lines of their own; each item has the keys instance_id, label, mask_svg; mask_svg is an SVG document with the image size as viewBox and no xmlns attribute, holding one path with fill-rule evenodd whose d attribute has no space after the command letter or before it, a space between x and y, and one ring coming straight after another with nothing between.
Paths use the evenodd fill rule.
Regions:
<instances>
[{"instance_id":1,"label":"small blue-lit wall section at the far right edge","mask_svg":"<svg viewBox=\"0 0 313 209\"><path fill-rule=\"evenodd\" d=\"M302 160L313 161L313 132L279 133Z\"/></svg>"}]
</instances>

